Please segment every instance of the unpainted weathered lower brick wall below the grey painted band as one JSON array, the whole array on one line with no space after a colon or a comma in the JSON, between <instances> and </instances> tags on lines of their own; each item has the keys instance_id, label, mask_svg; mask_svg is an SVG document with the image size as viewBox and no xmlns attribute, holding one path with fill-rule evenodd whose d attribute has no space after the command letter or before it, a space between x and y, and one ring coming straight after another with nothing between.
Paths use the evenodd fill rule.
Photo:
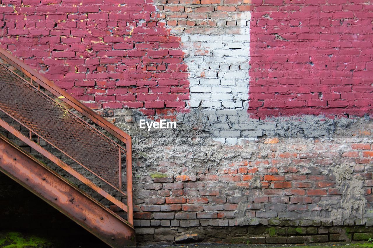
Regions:
<instances>
[{"instance_id":1,"label":"unpainted weathered lower brick wall below the grey painted band","mask_svg":"<svg viewBox=\"0 0 373 248\"><path fill-rule=\"evenodd\" d=\"M159 146L142 149L146 155L137 159L139 240L172 242L196 233L207 242L267 237L250 242L270 243L270 228L279 226L321 228L314 234L324 235L323 241L351 240L345 229L333 237L330 227L363 225L370 232L365 227L373 225L372 135L367 125L357 126L348 129L354 130L351 138L263 138L222 146L198 137L184 150L179 143L167 146L156 139ZM152 150L162 154L155 163L147 161ZM260 225L266 228L250 229ZM246 231L238 232L241 228ZM291 243L285 237L294 235L273 236Z\"/></svg>"}]
</instances>

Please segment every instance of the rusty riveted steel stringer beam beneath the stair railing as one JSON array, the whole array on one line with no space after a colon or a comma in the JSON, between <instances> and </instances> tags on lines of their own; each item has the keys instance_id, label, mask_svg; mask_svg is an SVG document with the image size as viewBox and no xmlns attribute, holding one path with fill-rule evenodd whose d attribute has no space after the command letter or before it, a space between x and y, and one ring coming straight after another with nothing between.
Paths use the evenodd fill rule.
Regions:
<instances>
[{"instance_id":1,"label":"rusty riveted steel stringer beam beneath the stair railing","mask_svg":"<svg viewBox=\"0 0 373 248\"><path fill-rule=\"evenodd\" d=\"M0 171L110 247L135 247L131 225L1 135Z\"/></svg>"}]
</instances>

